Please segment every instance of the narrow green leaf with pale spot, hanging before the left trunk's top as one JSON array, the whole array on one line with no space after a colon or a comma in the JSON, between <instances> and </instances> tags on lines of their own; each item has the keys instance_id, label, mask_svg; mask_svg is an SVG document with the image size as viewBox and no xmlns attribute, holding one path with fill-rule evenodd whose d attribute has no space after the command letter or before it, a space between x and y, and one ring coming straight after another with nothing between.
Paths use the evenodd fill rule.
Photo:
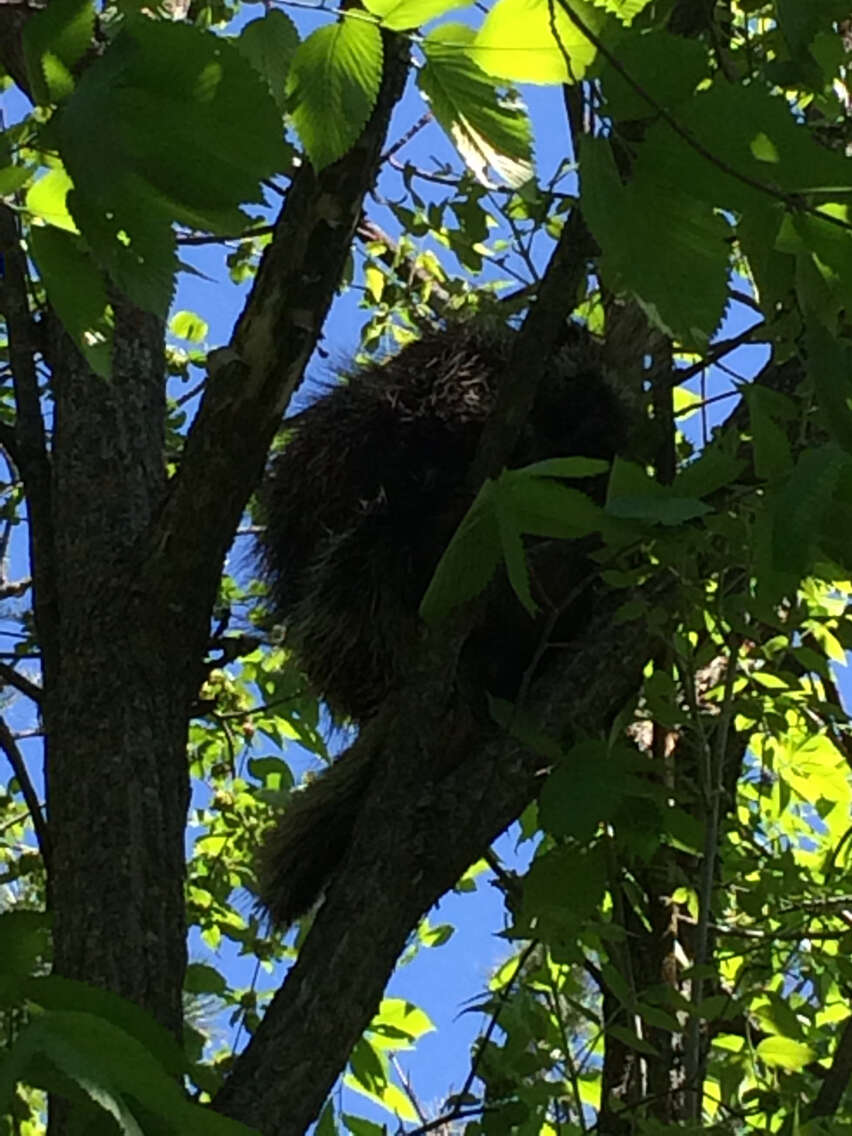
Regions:
<instances>
[{"instance_id":1,"label":"narrow green leaf with pale spot, hanging before the left trunk's top","mask_svg":"<svg viewBox=\"0 0 852 1136\"><path fill-rule=\"evenodd\" d=\"M30 251L66 332L95 374L109 376L112 319L103 274L80 239L58 228L34 226Z\"/></svg>"}]
</instances>

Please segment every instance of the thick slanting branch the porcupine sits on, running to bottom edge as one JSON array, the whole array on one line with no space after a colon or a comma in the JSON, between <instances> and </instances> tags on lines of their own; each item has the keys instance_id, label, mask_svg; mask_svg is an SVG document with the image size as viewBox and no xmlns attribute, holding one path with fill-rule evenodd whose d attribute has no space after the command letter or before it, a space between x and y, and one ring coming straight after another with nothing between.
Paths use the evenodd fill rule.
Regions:
<instances>
[{"instance_id":1,"label":"thick slanting branch the porcupine sits on, running to bottom edge","mask_svg":"<svg viewBox=\"0 0 852 1136\"><path fill-rule=\"evenodd\" d=\"M615 607L612 596L600 604L531 698L540 727L568 744L580 730L605 729L641 679L646 629L615 627ZM425 660L358 743L377 755L352 846L216 1101L266 1136L296 1136L316 1118L411 927L524 810L545 772L540 754L459 709L433 665Z\"/></svg>"}]
</instances>

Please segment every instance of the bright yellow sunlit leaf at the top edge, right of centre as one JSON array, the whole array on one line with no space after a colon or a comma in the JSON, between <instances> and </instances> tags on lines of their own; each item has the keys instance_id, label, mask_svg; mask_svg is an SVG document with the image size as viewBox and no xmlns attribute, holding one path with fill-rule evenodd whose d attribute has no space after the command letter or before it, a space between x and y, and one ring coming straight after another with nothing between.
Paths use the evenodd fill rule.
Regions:
<instances>
[{"instance_id":1,"label":"bright yellow sunlit leaf at the top edge, right of centre","mask_svg":"<svg viewBox=\"0 0 852 1136\"><path fill-rule=\"evenodd\" d=\"M592 32L600 31L603 12L584 0L565 3ZM470 51L486 74L517 83L577 83L596 53L562 3L550 0L498 0Z\"/></svg>"}]
</instances>

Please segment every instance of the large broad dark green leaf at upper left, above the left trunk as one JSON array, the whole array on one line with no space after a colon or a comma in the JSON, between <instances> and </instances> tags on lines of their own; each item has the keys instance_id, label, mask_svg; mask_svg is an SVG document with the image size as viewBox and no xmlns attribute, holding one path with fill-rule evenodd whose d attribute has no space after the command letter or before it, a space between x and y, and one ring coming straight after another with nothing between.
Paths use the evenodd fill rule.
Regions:
<instances>
[{"instance_id":1,"label":"large broad dark green leaf at upper left, above the left trunk","mask_svg":"<svg viewBox=\"0 0 852 1136\"><path fill-rule=\"evenodd\" d=\"M56 118L68 207L117 287L165 316L172 226L233 232L284 162L266 84L222 36L137 17Z\"/></svg>"}]
</instances>

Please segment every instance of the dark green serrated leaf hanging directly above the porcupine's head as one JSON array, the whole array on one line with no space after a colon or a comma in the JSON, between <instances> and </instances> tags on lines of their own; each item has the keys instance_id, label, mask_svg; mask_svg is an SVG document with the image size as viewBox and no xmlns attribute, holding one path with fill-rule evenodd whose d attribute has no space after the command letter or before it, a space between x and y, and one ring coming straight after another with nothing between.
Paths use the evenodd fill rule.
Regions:
<instances>
[{"instance_id":1,"label":"dark green serrated leaf hanging directly above the porcupine's head","mask_svg":"<svg viewBox=\"0 0 852 1136\"><path fill-rule=\"evenodd\" d=\"M584 137L582 207L617 291L633 292L666 334L704 349L727 302L729 227L692 190L645 165L624 185L609 141Z\"/></svg>"}]
</instances>

